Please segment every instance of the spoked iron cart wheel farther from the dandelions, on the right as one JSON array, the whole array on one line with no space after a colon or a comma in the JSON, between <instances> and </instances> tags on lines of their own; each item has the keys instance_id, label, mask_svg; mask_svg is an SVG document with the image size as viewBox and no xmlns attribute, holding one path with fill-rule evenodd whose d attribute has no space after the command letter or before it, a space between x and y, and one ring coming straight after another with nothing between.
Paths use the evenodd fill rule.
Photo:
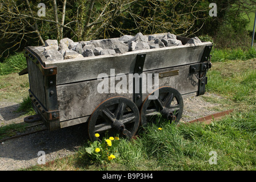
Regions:
<instances>
[{"instance_id":1,"label":"spoked iron cart wheel farther from the dandelions, on the right","mask_svg":"<svg viewBox=\"0 0 256 182\"><path fill-rule=\"evenodd\" d=\"M141 107L142 126L145 126L151 118L159 114L162 114L164 118L171 122L179 122L183 112L183 99L178 90L170 86L163 86L149 94L149 96Z\"/></svg>"}]
</instances>

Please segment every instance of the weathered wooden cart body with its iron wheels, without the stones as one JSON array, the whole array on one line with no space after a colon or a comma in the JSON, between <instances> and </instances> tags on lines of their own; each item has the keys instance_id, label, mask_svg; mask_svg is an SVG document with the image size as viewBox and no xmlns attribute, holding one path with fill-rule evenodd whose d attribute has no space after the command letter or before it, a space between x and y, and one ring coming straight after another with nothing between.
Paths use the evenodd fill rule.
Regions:
<instances>
[{"instance_id":1,"label":"weathered wooden cart body with its iron wheels, without the stones","mask_svg":"<svg viewBox=\"0 0 256 182\"><path fill-rule=\"evenodd\" d=\"M37 47L26 47L27 69L20 75L29 73L29 96L34 110L49 130L88 122L91 140L95 140L95 133L105 131L132 138L139 125L146 125L153 115L160 113L178 122L183 111L182 98L205 93L212 44L185 45L188 38L177 36L177 39L183 46L55 61L46 60ZM113 69L114 75L111 75ZM98 92L103 81L99 78L101 73L108 75L109 93ZM113 80L115 86L131 73L134 79L127 81L127 92L111 92ZM139 81L139 88L145 84L138 76L142 73L157 74L159 88L151 93L142 89L130 92L135 91L134 80ZM149 96L156 96L155 93L158 97L149 99ZM25 121L30 119L33 117Z\"/></svg>"}]
</instances>

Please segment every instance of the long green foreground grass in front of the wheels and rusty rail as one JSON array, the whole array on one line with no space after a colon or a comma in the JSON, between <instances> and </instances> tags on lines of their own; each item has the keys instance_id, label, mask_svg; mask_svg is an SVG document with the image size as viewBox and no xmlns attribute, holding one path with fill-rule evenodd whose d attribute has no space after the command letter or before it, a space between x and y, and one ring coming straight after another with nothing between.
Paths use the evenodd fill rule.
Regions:
<instances>
[{"instance_id":1,"label":"long green foreground grass in front of the wheels and rusty rail","mask_svg":"<svg viewBox=\"0 0 256 182\"><path fill-rule=\"evenodd\" d=\"M26 170L255 170L255 117L237 113L211 125L178 127L161 119L147 126L137 140L121 140L114 162L91 164L84 146L73 156ZM211 151L217 154L217 164L209 163Z\"/></svg>"}]
</instances>

